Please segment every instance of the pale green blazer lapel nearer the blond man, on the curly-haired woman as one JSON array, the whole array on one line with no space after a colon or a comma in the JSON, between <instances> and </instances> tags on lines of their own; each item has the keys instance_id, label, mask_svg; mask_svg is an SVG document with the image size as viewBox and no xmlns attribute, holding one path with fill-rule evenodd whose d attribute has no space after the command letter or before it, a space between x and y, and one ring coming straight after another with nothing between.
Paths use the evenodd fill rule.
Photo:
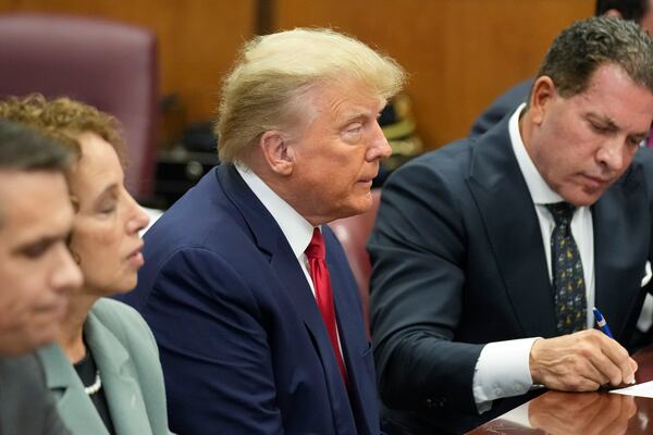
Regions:
<instances>
[{"instance_id":1,"label":"pale green blazer lapel nearer the blond man, on the curly-haired woman","mask_svg":"<svg viewBox=\"0 0 653 435\"><path fill-rule=\"evenodd\" d=\"M100 370L116 435L151 434L139 384L128 369L126 349L93 311L86 320L84 334Z\"/></svg>"}]
</instances>

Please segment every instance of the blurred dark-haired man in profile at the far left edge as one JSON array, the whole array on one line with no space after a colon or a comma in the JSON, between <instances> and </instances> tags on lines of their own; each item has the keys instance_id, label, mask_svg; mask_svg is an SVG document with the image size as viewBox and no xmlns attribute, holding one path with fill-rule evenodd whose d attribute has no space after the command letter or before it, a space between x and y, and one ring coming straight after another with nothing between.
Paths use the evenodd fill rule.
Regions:
<instances>
[{"instance_id":1,"label":"blurred dark-haired man in profile at the far left edge","mask_svg":"<svg viewBox=\"0 0 653 435\"><path fill-rule=\"evenodd\" d=\"M54 339L82 284L66 247L70 161L58 144L0 120L0 434L69 434L28 352Z\"/></svg>"}]
</instances>

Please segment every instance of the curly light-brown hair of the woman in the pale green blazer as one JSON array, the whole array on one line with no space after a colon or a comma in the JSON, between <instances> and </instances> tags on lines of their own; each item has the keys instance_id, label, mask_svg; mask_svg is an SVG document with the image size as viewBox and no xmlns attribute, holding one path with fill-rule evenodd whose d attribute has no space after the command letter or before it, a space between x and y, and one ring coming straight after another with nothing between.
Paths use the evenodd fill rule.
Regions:
<instances>
[{"instance_id":1,"label":"curly light-brown hair of the woman in the pale green blazer","mask_svg":"<svg viewBox=\"0 0 653 435\"><path fill-rule=\"evenodd\" d=\"M91 105L65 97L47 100L40 94L30 94L0 100L0 117L27 125L66 146L77 157L81 154L79 135L94 133L109 142L121 164L126 165L120 123Z\"/></svg>"}]
</instances>

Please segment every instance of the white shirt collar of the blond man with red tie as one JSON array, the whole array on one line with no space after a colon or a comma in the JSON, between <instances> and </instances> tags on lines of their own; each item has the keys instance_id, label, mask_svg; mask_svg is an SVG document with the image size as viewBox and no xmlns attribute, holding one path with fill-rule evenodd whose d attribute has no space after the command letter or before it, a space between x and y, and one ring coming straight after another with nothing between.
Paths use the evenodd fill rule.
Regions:
<instances>
[{"instance_id":1,"label":"white shirt collar of the blond man with red tie","mask_svg":"<svg viewBox=\"0 0 653 435\"><path fill-rule=\"evenodd\" d=\"M276 221L295 257L299 258L312 238L313 226L276 195L254 171L242 163L236 163L235 166L245 184Z\"/></svg>"}]
</instances>

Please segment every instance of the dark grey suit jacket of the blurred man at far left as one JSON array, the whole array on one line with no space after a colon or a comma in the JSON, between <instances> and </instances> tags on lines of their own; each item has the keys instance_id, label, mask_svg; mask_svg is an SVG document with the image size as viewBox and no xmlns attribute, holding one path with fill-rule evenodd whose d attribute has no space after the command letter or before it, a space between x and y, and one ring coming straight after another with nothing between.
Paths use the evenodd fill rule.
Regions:
<instances>
[{"instance_id":1,"label":"dark grey suit jacket of the blurred man at far left","mask_svg":"<svg viewBox=\"0 0 653 435\"><path fill-rule=\"evenodd\" d=\"M34 355L0 359L0 434L70 435Z\"/></svg>"}]
</instances>

